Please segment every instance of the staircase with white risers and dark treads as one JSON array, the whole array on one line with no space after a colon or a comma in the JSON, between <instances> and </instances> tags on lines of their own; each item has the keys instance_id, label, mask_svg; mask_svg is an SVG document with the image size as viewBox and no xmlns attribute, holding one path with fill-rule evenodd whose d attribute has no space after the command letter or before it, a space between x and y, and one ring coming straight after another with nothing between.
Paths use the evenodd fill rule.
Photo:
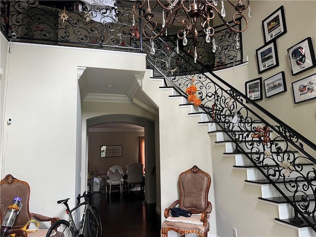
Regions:
<instances>
[{"instance_id":1,"label":"staircase with white risers and dark treads","mask_svg":"<svg viewBox=\"0 0 316 237\"><path fill-rule=\"evenodd\" d=\"M165 78L152 77L150 80L160 81L161 86L159 86L159 90L169 90L170 94L168 97L170 99L178 99L179 108L189 108L190 113L188 113L188 117L199 117L200 121L197 122L197 125L207 127L207 133L210 135L215 146L221 150L223 158L235 158L235 164L231 166L232 170L245 173L245 185L260 189L260 196L257 197L258 201L264 205L269 204L273 208L277 207L275 208L277 215L273 217L276 224L295 230L298 237L316 236L316 232L310 227L310 223L307 223L302 217L298 218L298 221L294 221L296 216L300 215L294 212L291 205L294 197L293 191L288 190L289 187L293 188L295 185L304 185L306 183L304 177L309 177L311 183L315 185L315 164L313 162L301 156L297 149L289 146L272 128L270 128L269 132L271 141L266 146L262 145L260 138L252 138L251 134L258 133L258 131L255 131L257 126L265 126L259 119L252 122L240 119L237 125L233 124L236 126L230 126L231 129L227 131L225 127L228 124L232 124L232 117L227 116L228 120L225 119L224 122L216 121L216 116L214 119L213 117L214 114L218 113L217 111L213 113L213 111L205 111L203 107L194 106L188 101L185 95L181 94L179 88L170 86L170 83L166 85L168 82L166 82ZM253 146L254 143L256 146ZM273 175L271 176L272 170L276 172L280 171L280 173L284 173L285 171L285 168L279 165L280 160L277 162L274 159L275 157L287 157L289 158L288 160L294 159L295 167L298 168L291 172L289 177L276 175L275 179L272 179L271 182L266 177L273 177ZM293 180L295 180L295 184ZM285 194L285 197L278 190L281 190ZM306 205L307 203L314 208L314 192L315 189L310 188L306 190L304 195L303 193L295 194L297 196L304 196L302 198L295 197L295 202L303 208L304 204ZM307 219L311 223L314 223L315 229L316 224L315 220L313 220L313 214L307 216Z\"/></svg>"}]
</instances>

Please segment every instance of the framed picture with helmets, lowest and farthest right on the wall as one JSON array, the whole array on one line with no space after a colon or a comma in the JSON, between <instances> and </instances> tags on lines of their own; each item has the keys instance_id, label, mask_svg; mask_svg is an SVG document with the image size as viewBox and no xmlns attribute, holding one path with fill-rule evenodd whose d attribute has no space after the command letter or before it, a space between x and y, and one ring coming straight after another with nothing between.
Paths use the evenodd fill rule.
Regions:
<instances>
[{"instance_id":1,"label":"framed picture with helmets, lowest and farthest right on the wall","mask_svg":"<svg viewBox=\"0 0 316 237\"><path fill-rule=\"evenodd\" d=\"M292 82L294 103L316 98L316 74Z\"/></svg>"}]
</instances>

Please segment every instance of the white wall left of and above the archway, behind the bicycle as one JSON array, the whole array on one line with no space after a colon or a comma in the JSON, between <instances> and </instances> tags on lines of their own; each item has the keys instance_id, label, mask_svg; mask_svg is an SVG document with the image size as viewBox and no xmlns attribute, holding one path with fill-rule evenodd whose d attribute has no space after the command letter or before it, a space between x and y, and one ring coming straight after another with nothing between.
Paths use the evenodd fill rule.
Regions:
<instances>
[{"instance_id":1,"label":"white wall left of and above the archway, behind the bicycle","mask_svg":"<svg viewBox=\"0 0 316 237\"><path fill-rule=\"evenodd\" d=\"M2 48L5 45L1 40ZM1 178L10 173L29 183L32 212L62 217L64 207L56 201L70 197L73 206L75 197L86 187L86 156L85 151L82 153L86 143L80 148L78 67L126 69L139 74L145 71L145 57L137 53L14 43L7 65L7 100L2 105L1 97L1 108L6 108L4 121L10 117L12 124L4 126ZM125 111L153 117L134 107Z\"/></svg>"}]
</instances>

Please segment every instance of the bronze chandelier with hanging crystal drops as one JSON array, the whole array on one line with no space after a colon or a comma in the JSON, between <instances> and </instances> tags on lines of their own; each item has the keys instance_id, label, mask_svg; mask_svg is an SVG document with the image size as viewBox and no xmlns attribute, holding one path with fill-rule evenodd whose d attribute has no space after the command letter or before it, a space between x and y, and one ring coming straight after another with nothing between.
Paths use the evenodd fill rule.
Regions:
<instances>
[{"instance_id":1,"label":"bronze chandelier with hanging crystal drops","mask_svg":"<svg viewBox=\"0 0 316 237\"><path fill-rule=\"evenodd\" d=\"M183 29L177 32L177 37L179 40L182 40L183 45L187 45L188 39L187 36L192 34L192 44L195 51L195 62L197 61L197 34L198 29L202 30L202 33L205 35L205 41L207 43L212 41L212 51L216 51L215 39L211 38L215 34L214 28L210 25L210 21L215 17L217 13L220 19L224 22L226 27L235 33L241 33L245 31L248 27L248 21L245 16L242 14L242 11L248 8L248 17L251 17L250 12L250 0L245 0L246 5L242 2L242 0L237 0L237 4L235 5L232 0L225 0L230 5L232 5L237 13L233 15L233 21L235 24L240 24L240 19L243 18L245 20L245 27L242 30L237 30L234 27L230 26L229 23L225 20L226 10L224 5L224 0L165 0L162 3L162 0L136 0L133 5L134 15L137 17L145 18L145 24L143 25L143 35L145 38L151 40L151 53L155 53L155 47L153 39L161 37L163 35L167 36L168 30L167 28L171 27L175 23L181 23L181 27ZM147 4L146 4L147 3ZM219 4L221 3L221 4ZM145 9L146 6L146 11ZM151 6L152 5L152 6ZM221 5L221 10L218 10L218 5ZM157 7L158 6L158 7ZM154 32L158 29L157 18L154 19L153 10L155 7L160 9L162 8L162 17L161 17L161 30L157 34L151 34L146 29L149 29L150 32ZM133 15L133 26L135 25L135 19ZM199 23L198 23L198 18ZM237 47L238 44L238 34L236 35ZM177 53L179 53L178 41L177 41Z\"/></svg>"}]
</instances>

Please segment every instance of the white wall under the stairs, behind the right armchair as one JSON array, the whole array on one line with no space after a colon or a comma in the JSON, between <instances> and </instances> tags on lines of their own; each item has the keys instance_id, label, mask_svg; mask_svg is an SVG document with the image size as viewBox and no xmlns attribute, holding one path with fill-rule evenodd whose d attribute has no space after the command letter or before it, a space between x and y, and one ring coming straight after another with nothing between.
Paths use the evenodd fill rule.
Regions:
<instances>
[{"instance_id":1,"label":"white wall under the stairs, behind the right armchair","mask_svg":"<svg viewBox=\"0 0 316 237\"><path fill-rule=\"evenodd\" d=\"M197 126L199 117L189 118L188 108L178 108L179 99L168 99L170 91L159 91L161 82L149 80L147 72L142 81L142 90L151 97L159 108L159 152L160 152L160 192L161 221L164 209L180 198L179 174L197 165L212 175L210 138L207 126ZM214 201L214 185L211 183L209 201ZM210 234L216 235L216 205L210 217Z\"/></svg>"}]
</instances>

